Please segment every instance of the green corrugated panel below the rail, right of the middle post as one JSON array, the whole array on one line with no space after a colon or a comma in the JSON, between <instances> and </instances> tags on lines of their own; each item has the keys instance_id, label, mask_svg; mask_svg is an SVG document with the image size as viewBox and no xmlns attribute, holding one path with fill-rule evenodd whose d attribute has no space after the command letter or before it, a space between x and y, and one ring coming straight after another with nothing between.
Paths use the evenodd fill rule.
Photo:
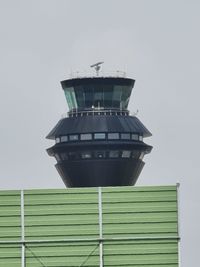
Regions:
<instances>
[{"instance_id":1,"label":"green corrugated panel below the rail, right of the middle post","mask_svg":"<svg viewBox=\"0 0 200 267\"><path fill-rule=\"evenodd\" d=\"M177 267L177 253L176 243L106 243L104 266Z\"/></svg>"}]
</instances>

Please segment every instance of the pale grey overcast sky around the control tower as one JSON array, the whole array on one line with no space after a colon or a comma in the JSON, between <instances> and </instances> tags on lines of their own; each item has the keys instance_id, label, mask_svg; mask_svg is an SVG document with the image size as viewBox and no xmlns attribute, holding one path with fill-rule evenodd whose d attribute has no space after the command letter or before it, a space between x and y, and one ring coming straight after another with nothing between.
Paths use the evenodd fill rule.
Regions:
<instances>
[{"instance_id":1,"label":"pale grey overcast sky around the control tower","mask_svg":"<svg viewBox=\"0 0 200 267\"><path fill-rule=\"evenodd\" d=\"M0 188L63 188L45 136L72 71L126 71L153 133L137 185L179 182L182 267L199 266L200 1L0 0Z\"/></svg>"}]
</instances>

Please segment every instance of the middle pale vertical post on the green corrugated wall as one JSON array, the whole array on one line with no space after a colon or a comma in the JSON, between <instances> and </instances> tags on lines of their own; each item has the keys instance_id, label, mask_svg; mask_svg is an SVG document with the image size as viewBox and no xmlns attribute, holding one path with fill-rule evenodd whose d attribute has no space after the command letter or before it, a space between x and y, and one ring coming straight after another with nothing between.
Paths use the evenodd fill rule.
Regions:
<instances>
[{"instance_id":1,"label":"middle pale vertical post on the green corrugated wall","mask_svg":"<svg viewBox=\"0 0 200 267\"><path fill-rule=\"evenodd\" d=\"M102 222L102 191L98 187L98 204L99 204L99 266L103 267L103 222Z\"/></svg>"}]
</instances>

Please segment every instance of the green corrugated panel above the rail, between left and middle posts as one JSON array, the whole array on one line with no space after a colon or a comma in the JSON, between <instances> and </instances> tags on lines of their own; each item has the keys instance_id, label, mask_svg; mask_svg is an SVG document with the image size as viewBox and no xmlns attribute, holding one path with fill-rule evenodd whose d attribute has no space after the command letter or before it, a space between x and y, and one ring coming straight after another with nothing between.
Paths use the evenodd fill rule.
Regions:
<instances>
[{"instance_id":1,"label":"green corrugated panel above the rail, between left and middle posts","mask_svg":"<svg viewBox=\"0 0 200 267\"><path fill-rule=\"evenodd\" d=\"M26 239L98 237L97 189L25 191Z\"/></svg>"}]
</instances>

